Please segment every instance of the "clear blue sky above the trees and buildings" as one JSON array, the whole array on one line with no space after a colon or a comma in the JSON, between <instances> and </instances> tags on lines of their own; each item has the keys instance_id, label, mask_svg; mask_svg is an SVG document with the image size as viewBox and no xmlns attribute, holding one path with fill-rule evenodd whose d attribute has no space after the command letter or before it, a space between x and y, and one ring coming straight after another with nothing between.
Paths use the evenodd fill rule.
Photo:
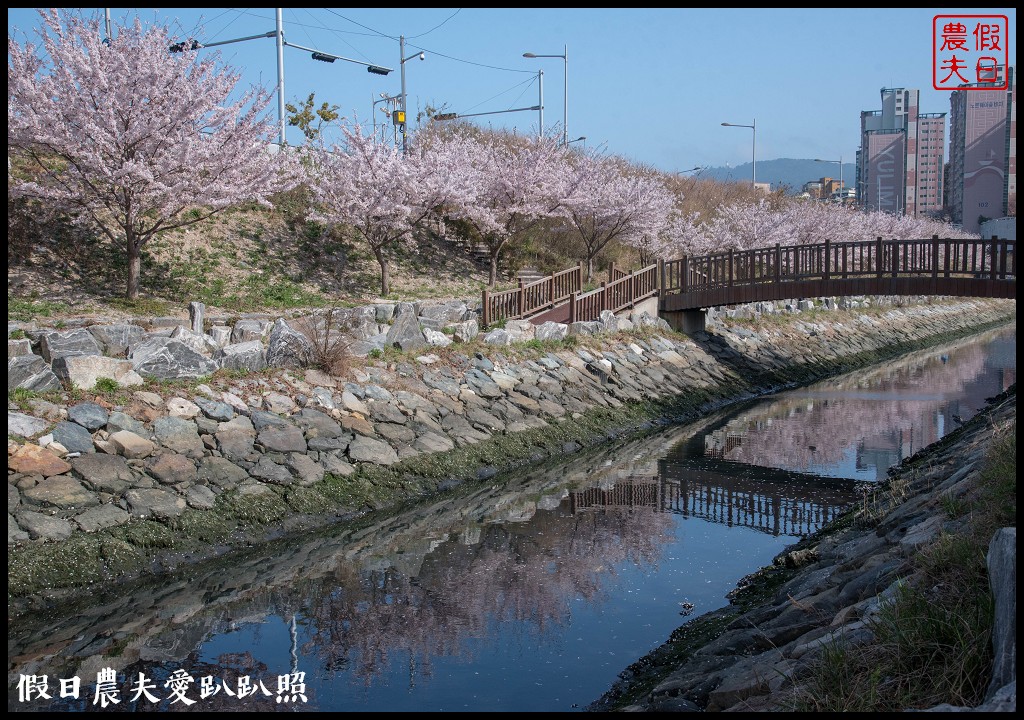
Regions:
<instances>
[{"instance_id":1,"label":"clear blue sky above the trees and buildings","mask_svg":"<svg viewBox=\"0 0 1024 720\"><path fill-rule=\"evenodd\" d=\"M93 11L102 8L86 8ZM114 8L112 16L126 12ZM201 42L275 28L274 8L132 12ZM568 138L585 135L588 147L636 163L666 171L735 166L751 161L755 139L759 162L852 163L860 112L881 108L883 87L919 88L922 112L949 112L949 92L932 89L936 14L1007 15L1016 66L1014 8L285 8L288 42L394 72L373 75L364 65L319 62L286 47L284 95L296 101L314 92L317 102L370 124L373 100L401 90L398 38L404 36L411 118L429 104L463 115L496 113L469 120L536 133L537 111L501 111L539 104L543 70L546 130L561 132L567 90ZM8 8L8 34L16 28L19 42L36 25L33 8ZM215 50L242 71L244 84L276 84L272 38L200 52ZM567 59L527 59L524 52ZM382 107L376 105L378 122ZM272 112L276 117L276 104ZM723 122L756 124L756 138ZM288 137L301 140L295 129Z\"/></svg>"}]
</instances>

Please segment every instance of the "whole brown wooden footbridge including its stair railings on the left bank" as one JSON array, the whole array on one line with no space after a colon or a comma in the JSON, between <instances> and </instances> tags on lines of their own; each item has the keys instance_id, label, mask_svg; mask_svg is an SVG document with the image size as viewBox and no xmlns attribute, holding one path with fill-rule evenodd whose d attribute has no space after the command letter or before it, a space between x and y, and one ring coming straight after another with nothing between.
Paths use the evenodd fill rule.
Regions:
<instances>
[{"instance_id":1,"label":"whole brown wooden footbridge including its stair railings on the left bank","mask_svg":"<svg viewBox=\"0 0 1024 720\"><path fill-rule=\"evenodd\" d=\"M581 264L513 290L483 291L482 320L574 323L598 320L657 297L670 319L708 307L762 300L850 295L1017 297L1016 241L883 240L776 245L682 257L624 272L583 292ZM702 324L701 324L702 325Z\"/></svg>"}]
</instances>

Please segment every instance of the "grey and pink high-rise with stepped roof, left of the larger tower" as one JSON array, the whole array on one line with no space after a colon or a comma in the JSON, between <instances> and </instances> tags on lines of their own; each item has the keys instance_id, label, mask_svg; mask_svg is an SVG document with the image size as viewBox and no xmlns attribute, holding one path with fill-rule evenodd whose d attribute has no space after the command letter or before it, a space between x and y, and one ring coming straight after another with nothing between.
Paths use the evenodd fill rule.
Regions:
<instances>
[{"instance_id":1,"label":"grey and pink high-rise with stepped roof, left of the larger tower","mask_svg":"<svg viewBox=\"0 0 1024 720\"><path fill-rule=\"evenodd\" d=\"M945 113L919 111L920 91L884 87L860 114L857 204L918 217L942 211Z\"/></svg>"}]
</instances>

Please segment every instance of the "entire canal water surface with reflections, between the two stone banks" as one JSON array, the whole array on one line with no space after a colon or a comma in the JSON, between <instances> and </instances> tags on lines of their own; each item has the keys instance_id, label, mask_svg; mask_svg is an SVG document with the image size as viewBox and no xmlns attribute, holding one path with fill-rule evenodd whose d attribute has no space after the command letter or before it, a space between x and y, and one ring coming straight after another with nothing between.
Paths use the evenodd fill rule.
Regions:
<instances>
[{"instance_id":1,"label":"entire canal water surface with reflections, between the two stone banks","mask_svg":"<svg viewBox=\"0 0 1024 720\"><path fill-rule=\"evenodd\" d=\"M160 582L97 584L9 623L8 710L581 711L1015 382L1014 325Z\"/></svg>"}]
</instances>

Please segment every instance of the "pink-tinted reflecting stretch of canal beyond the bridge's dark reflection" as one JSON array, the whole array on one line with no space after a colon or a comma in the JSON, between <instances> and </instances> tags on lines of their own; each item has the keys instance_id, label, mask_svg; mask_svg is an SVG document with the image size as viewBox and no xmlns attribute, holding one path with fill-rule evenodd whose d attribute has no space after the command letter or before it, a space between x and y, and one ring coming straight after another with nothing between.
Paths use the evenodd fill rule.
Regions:
<instances>
[{"instance_id":1,"label":"pink-tinted reflecting stretch of canal beyond the bridge's dark reflection","mask_svg":"<svg viewBox=\"0 0 1024 720\"><path fill-rule=\"evenodd\" d=\"M880 480L1017 381L1015 332L918 352L780 393L705 437L734 463Z\"/></svg>"}]
</instances>

